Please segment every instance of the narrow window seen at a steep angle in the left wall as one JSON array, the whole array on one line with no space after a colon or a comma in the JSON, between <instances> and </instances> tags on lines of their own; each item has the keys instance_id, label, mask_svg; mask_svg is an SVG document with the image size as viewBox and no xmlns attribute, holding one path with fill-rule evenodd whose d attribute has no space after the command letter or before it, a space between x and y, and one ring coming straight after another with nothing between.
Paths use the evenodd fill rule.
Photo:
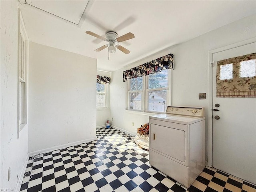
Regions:
<instances>
[{"instance_id":1,"label":"narrow window seen at a steep angle in the left wall","mask_svg":"<svg viewBox=\"0 0 256 192\"><path fill-rule=\"evenodd\" d=\"M24 22L20 16L18 36L18 130L27 124L27 66L28 66L28 38Z\"/></svg>"}]
</instances>

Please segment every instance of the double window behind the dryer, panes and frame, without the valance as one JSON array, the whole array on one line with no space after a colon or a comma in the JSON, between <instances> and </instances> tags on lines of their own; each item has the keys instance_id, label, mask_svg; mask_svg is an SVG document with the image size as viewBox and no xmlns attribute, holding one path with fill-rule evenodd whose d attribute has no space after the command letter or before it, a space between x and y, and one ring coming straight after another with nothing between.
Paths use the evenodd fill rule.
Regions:
<instances>
[{"instance_id":1,"label":"double window behind the dryer, panes and frame, without the valance","mask_svg":"<svg viewBox=\"0 0 256 192\"><path fill-rule=\"evenodd\" d=\"M128 80L128 110L164 113L168 104L169 70Z\"/></svg>"}]
</instances>

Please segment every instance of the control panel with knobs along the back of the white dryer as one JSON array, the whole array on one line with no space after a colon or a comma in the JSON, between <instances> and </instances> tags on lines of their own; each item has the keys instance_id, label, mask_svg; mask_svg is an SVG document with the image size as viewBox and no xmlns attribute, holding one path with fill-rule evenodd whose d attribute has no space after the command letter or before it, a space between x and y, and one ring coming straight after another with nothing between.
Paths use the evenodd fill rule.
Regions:
<instances>
[{"instance_id":1,"label":"control panel with knobs along the back of the white dryer","mask_svg":"<svg viewBox=\"0 0 256 192\"><path fill-rule=\"evenodd\" d=\"M191 106L167 106L166 114L204 117L204 108Z\"/></svg>"}]
</instances>

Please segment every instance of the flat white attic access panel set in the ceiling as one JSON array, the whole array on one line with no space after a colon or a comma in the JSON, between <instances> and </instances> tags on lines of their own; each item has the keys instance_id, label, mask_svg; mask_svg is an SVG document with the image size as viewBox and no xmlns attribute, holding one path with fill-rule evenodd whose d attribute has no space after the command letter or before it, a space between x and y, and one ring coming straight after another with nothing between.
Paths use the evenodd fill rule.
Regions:
<instances>
[{"instance_id":1,"label":"flat white attic access panel set in the ceiling","mask_svg":"<svg viewBox=\"0 0 256 192\"><path fill-rule=\"evenodd\" d=\"M79 1L46 1L26 0L26 3L50 14L78 24L89 0Z\"/></svg>"}]
</instances>

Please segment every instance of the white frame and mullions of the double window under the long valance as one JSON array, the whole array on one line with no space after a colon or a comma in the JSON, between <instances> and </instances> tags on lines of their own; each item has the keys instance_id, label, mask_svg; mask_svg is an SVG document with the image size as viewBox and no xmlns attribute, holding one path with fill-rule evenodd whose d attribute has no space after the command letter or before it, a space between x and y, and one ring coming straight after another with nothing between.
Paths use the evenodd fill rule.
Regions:
<instances>
[{"instance_id":1,"label":"white frame and mullions of the double window under the long valance","mask_svg":"<svg viewBox=\"0 0 256 192\"><path fill-rule=\"evenodd\" d=\"M157 113L157 114L164 114L164 112L158 112L158 111L151 111L148 110L148 91L154 91L154 90L166 90L166 107L171 105L171 100L172 100L172 95L171 95L171 85L172 85L172 70L168 70L168 75L167 75L167 82L168 86L165 88L155 88L155 89L149 89L148 88L148 80L149 80L149 75L147 76L142 76L142 103L141 103L141 110L138 109L131 109L130 108L130 93L132 92L140 92L138 90L136 91L130 91L130 79L127 80L126 82L126 110L129 111L134 111L134 112L146 112L146 113Z\"/></svg>"}]
</instances>

